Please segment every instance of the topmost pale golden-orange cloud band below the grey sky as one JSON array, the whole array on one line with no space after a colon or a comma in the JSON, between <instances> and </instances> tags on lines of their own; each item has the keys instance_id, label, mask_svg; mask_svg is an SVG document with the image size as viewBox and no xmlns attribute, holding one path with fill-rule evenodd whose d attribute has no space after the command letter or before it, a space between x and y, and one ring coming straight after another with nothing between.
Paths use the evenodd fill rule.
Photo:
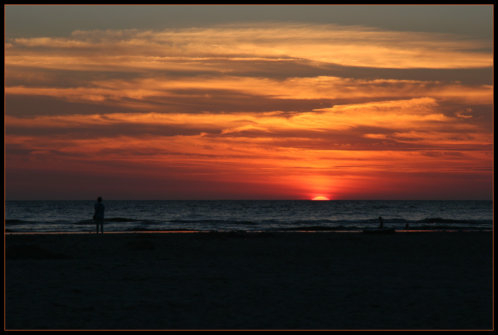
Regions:
<instances>
[{"instance_id":1,"label":"topmost pale golden-orange cloud band below the grey sky","mask_svg":"<svg viewBox=\"0 0 498 335\"><path fill-rule=\"evenodd\" d=\"M155 68L160 66L157 59L148 57L167 55L185 57L186 61L191 58L292 58L380 68L493 66L493 55L478 51L483 47L490 46L451 35L333 24L278 23L163 31L75 31L69 38L16 38L6 44L6 62L29 63L29 58L20 55L19 49L23 49L23 55L32 55L49 48L68 57L69 62L57 62L67 67L95 64L90 55L99 55L98 63L110 65L120 62L116 56L128 64L135 62L123 55L140 55L137 64L153 62ZM36 59L31 59L33 61ZM38 62L51 63L50 58L38 59Z\"/></svg>"}]
</instances>

